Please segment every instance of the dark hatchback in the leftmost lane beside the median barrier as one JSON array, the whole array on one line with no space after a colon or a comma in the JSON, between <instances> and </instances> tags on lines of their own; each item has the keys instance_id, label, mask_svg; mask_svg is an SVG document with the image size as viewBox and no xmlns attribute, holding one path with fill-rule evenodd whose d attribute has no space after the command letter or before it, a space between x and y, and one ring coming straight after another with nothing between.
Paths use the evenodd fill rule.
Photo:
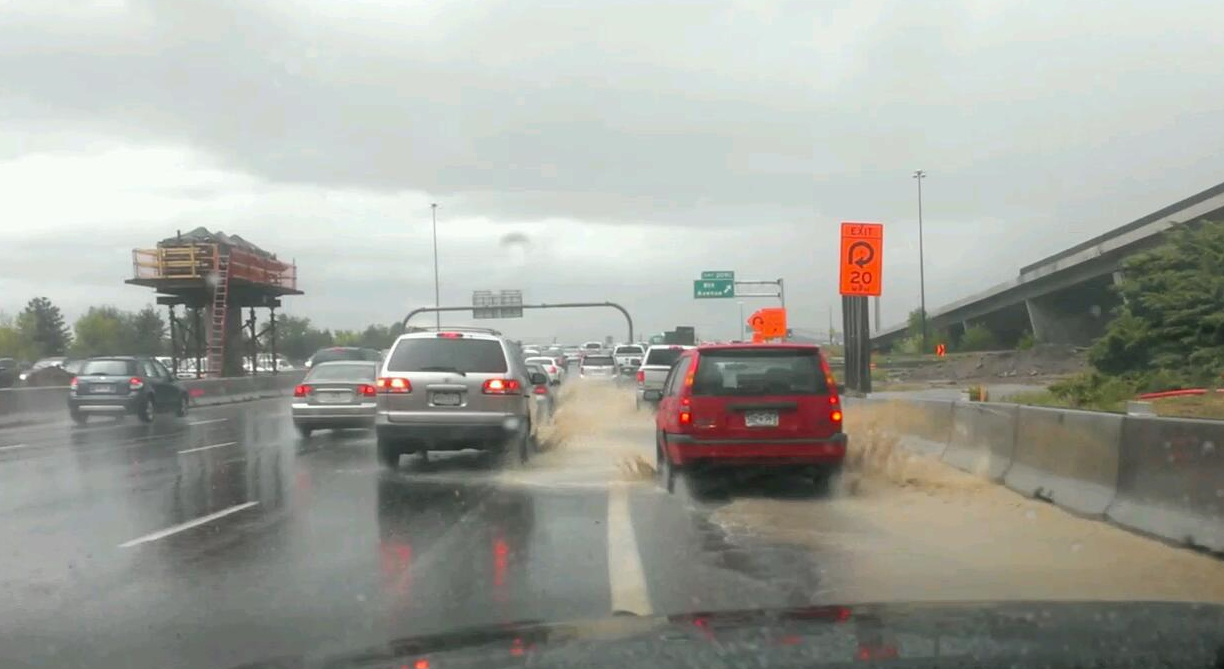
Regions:
<instances>
[{"instance_id":1,"label":"dark hatchback in the leftmost lane beside the median barrier","mask_svg":"<svg viewBox=\"0 0 1224 669\"><path fill-rule=\"evenodd\" d=\"M127 413L151 423L158 412L186 416L190 404L187 390L151 357L89 358L69 384L69 415L77 423L84 423L89 416Z\"/></svg>"}]
</instances>

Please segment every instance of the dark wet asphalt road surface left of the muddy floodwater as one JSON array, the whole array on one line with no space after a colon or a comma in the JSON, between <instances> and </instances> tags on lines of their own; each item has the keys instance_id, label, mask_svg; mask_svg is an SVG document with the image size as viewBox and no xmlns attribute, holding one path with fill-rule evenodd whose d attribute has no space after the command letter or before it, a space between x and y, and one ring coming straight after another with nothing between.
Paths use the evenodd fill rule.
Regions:
<instances>
[{"instance_id":1,"label":"dark wet asphalt road surface left of the muddy floodwater","mask_svg":"<svg viewBox=\"0 0 1224 669\"><path fill-rule=\"evenodd\" d=\"M0 431L0 665L234 667L818 592L809 552L734 544L579 453L388 473L370 433L300 440L285 400Z\"/></svg>"}]
</instances>

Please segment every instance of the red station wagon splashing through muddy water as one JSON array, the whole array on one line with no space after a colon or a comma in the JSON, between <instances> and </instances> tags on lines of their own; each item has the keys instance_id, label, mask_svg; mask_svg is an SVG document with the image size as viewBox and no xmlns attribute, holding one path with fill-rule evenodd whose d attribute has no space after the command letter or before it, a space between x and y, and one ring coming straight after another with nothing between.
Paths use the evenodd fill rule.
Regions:
<instances>
[{"instance_id":1,"label":"red station wagon splashing through muddy water","mask_svg":"<svg viewBox=\"0 0 1224 669\"><path fill-rule=\"evenodd\" d=\"M818 490L841 470L846 433L837 384L818 346L699 346L672 367L655 415L655 467L668 492L695 470L802 470Z\"/></svg>"}]
</instances>

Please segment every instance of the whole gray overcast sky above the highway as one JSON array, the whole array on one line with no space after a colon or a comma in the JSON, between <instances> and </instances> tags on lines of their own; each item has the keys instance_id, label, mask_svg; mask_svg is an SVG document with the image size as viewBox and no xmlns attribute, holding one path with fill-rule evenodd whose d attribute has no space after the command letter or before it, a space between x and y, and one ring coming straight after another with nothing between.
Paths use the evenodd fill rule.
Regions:
<instances>
[{"instance_id":1,"label":"whole gray overcast sky above the highway","mask_svg":"<svg viewBox=\"0 0 1224 669\"><path fill-rule=\"evenodd\" d=\"M914 169L931 307L1224 181L1220 26L1218 0L0 0L0 312L138 308L131 248L204 225L296 258L286 312L395 320L433 301L437 202L446 303L730 338L692 280L733 269L824 329L837 224L875 220L892 323Z\"/></svg>"}]
</instances>

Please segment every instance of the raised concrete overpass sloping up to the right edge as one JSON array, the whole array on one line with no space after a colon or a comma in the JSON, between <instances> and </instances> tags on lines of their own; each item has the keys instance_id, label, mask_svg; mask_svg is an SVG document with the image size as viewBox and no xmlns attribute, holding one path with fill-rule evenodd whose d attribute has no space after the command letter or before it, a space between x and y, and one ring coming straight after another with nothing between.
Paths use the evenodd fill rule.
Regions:
<instances>
[{"instance_id":1,"label":"raised concrete overpass sloping up to the right edge","mask_svg":"<svg viewBox=\"0 0 1224 669\"><path fill-rule=\"evenodd\" d=\"M1224 183L1022 267L1010 281L928 309L929 325L960 336L982 324L1005 344L1015 344L1026 330L1043 342L1091 344L1104 334L1119 303L1110 289L1122 261L1158 245L1169 227L1201 219L1224 220ZM884 349L905 336L906 324L900 323L883 328L873 344Z\"/></svg>"}]
</instances>

